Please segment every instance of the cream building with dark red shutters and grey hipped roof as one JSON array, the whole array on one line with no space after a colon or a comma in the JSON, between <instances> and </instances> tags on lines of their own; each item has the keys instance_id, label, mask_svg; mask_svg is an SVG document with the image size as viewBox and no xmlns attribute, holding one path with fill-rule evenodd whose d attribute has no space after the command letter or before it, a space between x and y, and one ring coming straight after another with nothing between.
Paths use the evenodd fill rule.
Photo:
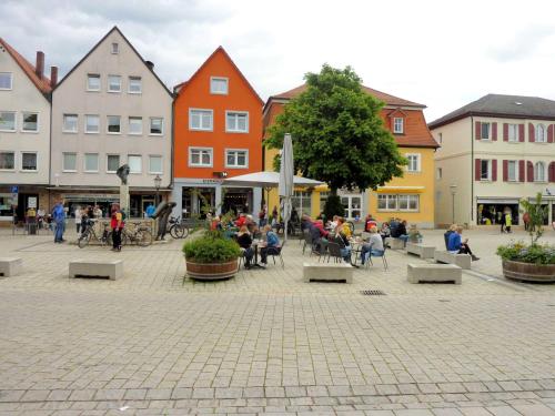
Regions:
<instances>
[{"instance_id":1,"label":"cream building with dark red shutters and grey hipped roof","mask_svg":"<svg viewBox=\"0 0 555 416\"><path fill-rule=\"evenodd\" d=\"M435 154L435 221L496 225L521 199L541 192L555 220L555 101L488 94L430 123Z\"/></svg>"}]
</instances>

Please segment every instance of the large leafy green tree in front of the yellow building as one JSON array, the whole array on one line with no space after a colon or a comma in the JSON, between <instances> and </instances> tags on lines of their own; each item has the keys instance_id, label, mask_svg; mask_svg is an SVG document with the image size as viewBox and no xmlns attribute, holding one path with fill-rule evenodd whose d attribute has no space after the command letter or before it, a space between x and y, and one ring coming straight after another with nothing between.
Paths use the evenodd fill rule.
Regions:
<instances>
[{"instance_id":1,"label":"large leafy green tree in front of the yellow building","mask_svg":"<svg viewBox=\"0 0 555 416\"><path fill-rule=\"evenodd\" d=\"M295 170L327 183L332 195L341 187L376 189L403 174L406 160L380 116L383 103L365 93L350 68L324 64L304 77L306 90L292 99L269 129L264 145L281 149L293 138ZM279 168L279 155L274 168Z\"/></svg>"}]
</instances>

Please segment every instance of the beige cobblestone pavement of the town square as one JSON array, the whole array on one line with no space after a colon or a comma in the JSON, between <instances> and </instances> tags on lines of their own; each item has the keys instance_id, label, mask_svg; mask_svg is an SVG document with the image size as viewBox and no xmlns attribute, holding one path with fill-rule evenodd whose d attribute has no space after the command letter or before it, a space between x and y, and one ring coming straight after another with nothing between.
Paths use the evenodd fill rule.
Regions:
<instances>
[{"instance_id":1,"label":"beige cobblestone pavement of the town square","mask_svg":"<svg viewBox=\"0 0 555 416\"><path fill-rule=\"evenodd\" d=\"M466 234L482 260L462 285L408 284L422 261L394 251L351 285L303 283L296 241L284 270L206 284L183 280L181 242L111 253L3 230L24 268L0 278L0 415L555 415L555 285L502 277L495 247L524 233ZM68 278L98 257L124 277Z\"/></svg>"}]
</instances>

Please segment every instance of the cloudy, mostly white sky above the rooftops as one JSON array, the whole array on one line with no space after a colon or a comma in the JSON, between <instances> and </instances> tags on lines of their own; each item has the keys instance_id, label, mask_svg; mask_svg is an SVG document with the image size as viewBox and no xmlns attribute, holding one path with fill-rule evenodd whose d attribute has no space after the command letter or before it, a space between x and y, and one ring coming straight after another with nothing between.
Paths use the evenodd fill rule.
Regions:
<instances>
[{"instance_id":1,"label":"cloudy, mostly white sky above the rooftops","mask_svg":"<svg viewBox=\"0 0 555 416\"><path fill-rule=\"evenodd\" d=\"M172 87L223 45L260 95L322 63L434 119L486 93L555 99L555 2L1 0L0 37L65 74L114 24Z\"/></svg>"}]
</instances>

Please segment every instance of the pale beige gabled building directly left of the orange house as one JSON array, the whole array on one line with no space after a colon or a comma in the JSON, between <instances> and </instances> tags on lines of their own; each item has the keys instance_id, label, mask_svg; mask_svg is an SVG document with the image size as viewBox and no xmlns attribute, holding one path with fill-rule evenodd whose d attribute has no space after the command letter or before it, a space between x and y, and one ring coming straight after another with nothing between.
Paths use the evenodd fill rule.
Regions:
<instances>
[{"instance_id":1,"label":"pale beige gabled building directly left of the orange house","mask_svg":"<svg viewBox=\"0 0 555 416\"><path fill-rule=\"evenodd\" d=\"M53 193L105 213L129 164L130 215L142 216L171 185L171 92L114 27L52 91Z\"/></svg>"}]
</instances>

